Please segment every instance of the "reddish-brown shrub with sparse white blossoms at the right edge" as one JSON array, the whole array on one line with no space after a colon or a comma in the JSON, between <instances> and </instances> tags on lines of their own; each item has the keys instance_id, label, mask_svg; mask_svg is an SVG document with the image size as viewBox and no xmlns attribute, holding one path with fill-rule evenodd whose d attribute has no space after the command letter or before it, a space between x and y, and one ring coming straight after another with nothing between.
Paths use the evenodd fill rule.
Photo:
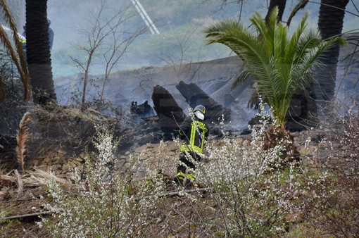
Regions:
<instances>
[{"instance_id":1,"label":"reddish-brown shrub with sparse white blossoms at the right edge","mask_svg":"<svg viewBox=\"0 0 359 238\"><path fill-rule=\"evenodd\" d=\"M355 104L358 108L358 104ZM326 177L311 185L307 218L328 237L358 237L359 234L359 116L349 110L340 117L342 129L336 141L325 140ZM324 175L322 175L324 176ZM309 191L309 190L308 190Z\"/></svg>"}]
</instances>

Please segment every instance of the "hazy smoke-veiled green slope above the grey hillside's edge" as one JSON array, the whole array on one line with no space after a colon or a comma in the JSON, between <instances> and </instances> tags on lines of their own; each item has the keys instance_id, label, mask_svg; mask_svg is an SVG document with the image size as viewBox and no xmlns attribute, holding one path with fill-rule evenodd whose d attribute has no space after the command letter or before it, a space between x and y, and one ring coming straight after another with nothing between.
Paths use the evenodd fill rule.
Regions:
<instances>
[{"instance_id":1,"label":"hazy smoke-veiled green slope above the grey hillside's edge","mask_svg":"<svg viewBox=\"0 0 359 238\"><path fill-rule=\"evenodd\" d=\"M25 23L25 1L11 0L10 2L12 1L13 6L11 7L20 9L15 13L18 18L18 27L22 32L22 26ZM244 0L242 6L237 1L228 1L227 4L222 5L220 0L139 1L158 28L160 35L151 35L148 30L144 35L138 37L127 51L127 55L122 58L119 67L121 70L149 65L166 65L168 63L163 59L168 59L168 57L177 62L184 60L187 63L227 57L230 55L227 47L215 44L204 45L203 27L224 18L240 18L241 23L250 27L248 18L255 11L265 15L267 13L267 4L269 4L269 1L263 0ZM15 4L15 2L18 2L18 4ZM288 18L291 9L297 2L287 1L283 20ZM316 2L319 3L320 1ZM53 50L51 51L53 75L55 77L79 73L76 68L72 67L73 63L69 60L68 55L75 53L74 49L71 49L71 45L82 41L77 30L79 27L84 27L88 24L90 15L96 14L97 6L100 3L100 0L48 1L48 16L51 20L51 28L55 32ZM106 1L108 13L125 5L130 5L130 8L132 8L131 14L134 16L128 20L127 27L133 27L132 29L144 27L144 21L140 18L130 0ZM301 19L301 15L306 11L310 12L310 24L316 27L319 6L319 4L310 2L305 10L299 11L291 23L292 27L296 26L298 20ZM240 9L242 9L241 12ZM347 11L358 14L352 2L348 4ZM352 30L357 27L358 18L346 13L345 22L344 31ZM184 46L182 49L180 49L180 44ZM96 65L96 62L94 62L94 65ZM99 68L94 67L92 71L94 74L101 74Z\"/></svg>"}]
</instances>

